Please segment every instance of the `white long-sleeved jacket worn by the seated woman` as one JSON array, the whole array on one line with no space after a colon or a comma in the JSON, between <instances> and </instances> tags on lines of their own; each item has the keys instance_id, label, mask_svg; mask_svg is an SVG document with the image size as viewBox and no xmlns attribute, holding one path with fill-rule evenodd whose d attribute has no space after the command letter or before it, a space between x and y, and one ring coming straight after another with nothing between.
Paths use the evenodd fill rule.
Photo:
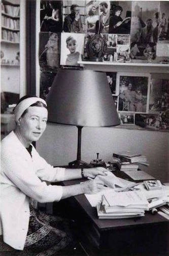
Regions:
<instances>
[{"instance_id":1,"label":"white long-sleeved jacket worn by the seated woman","mask_svg":"<svg viewBox=\"0 0 169 256\"><path fill-rule=\"evenodd\" d=\"M64 168L50 166L32 146L32 157L11 132L1 142L1 221L4 242L23 250L29 224L29 199L59 201L62 187L42 180L64 180Z\"/></svg>"}]
</instances>

